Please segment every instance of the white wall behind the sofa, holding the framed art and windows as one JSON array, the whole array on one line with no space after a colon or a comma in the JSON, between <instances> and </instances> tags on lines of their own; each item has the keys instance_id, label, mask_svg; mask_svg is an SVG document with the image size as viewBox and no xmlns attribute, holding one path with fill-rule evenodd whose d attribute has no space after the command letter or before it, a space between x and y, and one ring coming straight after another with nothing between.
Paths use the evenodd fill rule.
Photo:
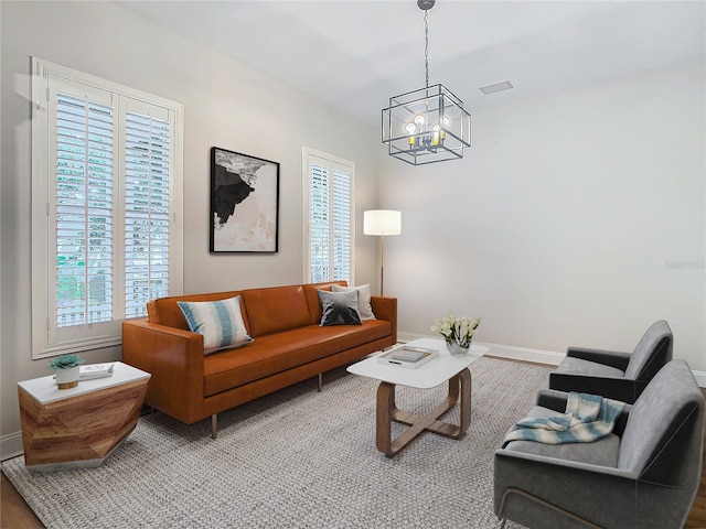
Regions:
<instances>
[{"instance_id":1,"label":"white wall behind the sofa, holding the framed art and windows","mask_svg":"<svg viewBox=\"0 0 706 529\"><path fill-rule=\"evenodd\" d=\"M30 352L30 56L184 105L184 291L302 281L301 147L356 163L359 282L375 278L376 241L362 234L376 206L378 131L109 2L0 2L2 52L2 455L20 430L17 382L46 376ZM340 122L344 125L339 126ZM210 149L280 162L279 252L208 253ZM119 348L85 355L120 357Z\"/></svg>"}]
</instances>

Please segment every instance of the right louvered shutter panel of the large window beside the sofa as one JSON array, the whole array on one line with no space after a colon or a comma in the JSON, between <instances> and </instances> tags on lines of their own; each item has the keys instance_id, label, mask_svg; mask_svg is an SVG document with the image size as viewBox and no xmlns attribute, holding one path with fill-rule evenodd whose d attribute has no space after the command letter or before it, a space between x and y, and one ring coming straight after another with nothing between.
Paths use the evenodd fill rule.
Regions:
<instances>
[{"instance_id":1,"label":"right louvered shutter panel of the large window beside the sofa","mask_svg":"<svg viewBox=\"0 0 706 529\"><path fill-rule=\"evenodd\" d=\"M126 112L125 317L169 294L170 126L159 110Z\"/></svg>"}]
</instances>

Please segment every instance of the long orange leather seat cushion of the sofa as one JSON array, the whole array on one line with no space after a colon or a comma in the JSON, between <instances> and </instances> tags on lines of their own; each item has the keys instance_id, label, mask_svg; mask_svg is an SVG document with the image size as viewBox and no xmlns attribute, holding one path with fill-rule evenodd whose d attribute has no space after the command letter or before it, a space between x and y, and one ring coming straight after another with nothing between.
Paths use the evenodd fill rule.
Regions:
<instances>
[{"instance_id":1,"label":"long orange leather seat cushion of the sofa","mask_svg":"<svg viewBox=\"0 0 706 529\"><path fill-rule=\"evenodd\" d=\"M362 325L306 327L260 336L236 350L221 350L204 358L205 395L236 388L310 361L332 356L389 336L392 324L384 320Z\"/></svg>"}]
</instances>

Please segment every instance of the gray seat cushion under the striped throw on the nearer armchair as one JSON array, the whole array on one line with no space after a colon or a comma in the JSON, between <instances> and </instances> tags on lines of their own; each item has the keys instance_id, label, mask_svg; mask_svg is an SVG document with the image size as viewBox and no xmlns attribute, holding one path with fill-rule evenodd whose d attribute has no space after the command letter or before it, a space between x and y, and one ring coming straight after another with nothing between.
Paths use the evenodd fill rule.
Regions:
<instances>
[{"instance_id":1,"label":"gray seat cushion under the striped throw on the nearer armchair","mask_svg":"<svg viewBox=\"0 0 706 529\"><path fill-rule=\"evenodd\" d=\"M527 417L555 417L557 412L548 408L535 406L530 410ZM569 444L545 444L534 441L512 441L505 446L506 450L513 452L523 452L525 454L544 455L546 457L556 457L565 461L576 461L579 463L588 463L591 465L618 466L618 456L620 454L620 438L614 433L593 441L592 443L569 443Z\"/></svg>"}]
</instances>

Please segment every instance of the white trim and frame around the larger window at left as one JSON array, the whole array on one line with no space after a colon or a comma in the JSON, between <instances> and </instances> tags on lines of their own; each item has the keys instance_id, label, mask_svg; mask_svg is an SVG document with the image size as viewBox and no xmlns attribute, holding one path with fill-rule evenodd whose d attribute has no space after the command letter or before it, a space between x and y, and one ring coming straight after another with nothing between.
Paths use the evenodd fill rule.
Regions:
<instances>
[{"instance_id":1,"label":"white trim and frame around the larger window at left","mask_svg":"<svg viewBox=\"0 0 706 529\"><path fill-rule=\"evenodd\" d=\"M97 335L67 339L52 343L50 330L55 328L52 324L50 281L52 272L50 245L54 238L50 233L52 217L50 207L53 204L51 196L50 168L51 150L50 144L50 109L49 86L50 76L58 79L66 79L72 83L84 84L88 87L117 93L127 98L148 101L156 106L161 106L174 114L173 123L173 182L170 185L170 203L173 204L171 210L171 227L174 236L170 239L173 267L170 269L170 294L179 295L183 291L183 106L179 102L164 99L159 96L137 90L117 83L113 83L89 74L61 66L38 57L32 57L32 115L31 115L31 188L32 188L32 210L31 210L31 234L32 234L32 257L31 257L31 284L32 284L32 359L46 358L63 353L76 353L82 350L96 349L120 345L122 335L120 322L122 319L113 320L113 330L107 333L98 331ZM121 111L121 110L119 110ZM118 115L119 116L119 115ZM120 162L121 164L121 162ZM121 180L117 182L120 192L124 192ZM120 198L121 199L121 195ZM121 231L116 234L121 235ZM120 273L120 272L118 272ZM124 294L120 293L120 296ZM87 324L90 330L94 326L105 324Z\"/></svg>"}]
</instances>

